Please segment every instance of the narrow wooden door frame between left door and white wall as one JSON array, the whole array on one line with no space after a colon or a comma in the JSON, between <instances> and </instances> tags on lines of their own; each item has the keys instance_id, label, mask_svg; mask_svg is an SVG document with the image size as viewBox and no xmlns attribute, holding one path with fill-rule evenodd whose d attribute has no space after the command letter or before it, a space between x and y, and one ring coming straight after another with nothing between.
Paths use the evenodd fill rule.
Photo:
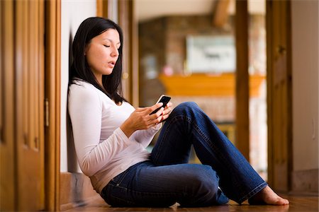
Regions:
<instances>
[{"instance_id":1,"label":"narrow wooden door frame between left door and white wall","mask_svg":"<svg viewBox=\"0 0 319 212\"><path fill-rule=\"evenodd\" d=\"M45 4L45 98L50 120L45 131L45 209L59 211L61 1L45 1Z\"/></svg>"}]
</instances>

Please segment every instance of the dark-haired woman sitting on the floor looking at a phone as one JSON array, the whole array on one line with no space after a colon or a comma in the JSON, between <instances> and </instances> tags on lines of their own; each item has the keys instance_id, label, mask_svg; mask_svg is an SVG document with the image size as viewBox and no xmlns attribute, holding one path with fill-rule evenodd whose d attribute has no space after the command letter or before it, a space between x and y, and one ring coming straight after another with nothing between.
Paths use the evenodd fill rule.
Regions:
<instances>
[{"instance_id":1,"label":"dark-haired woman sitting on the floor looking at a phone","mask_svg":"<svg viewBox=\"0 0 319 212\"><path fill-rule=\"evenodd\" d=\"M123 34L87 18L73 42L69 115L79 165L112 206L289 204L194 103L133 108L121 96ZM171 111L172 110L172 111ZM152 153L145 148L165 124ZM188 164L191 145L203 165Z\"/></svg>"}]
</instances>

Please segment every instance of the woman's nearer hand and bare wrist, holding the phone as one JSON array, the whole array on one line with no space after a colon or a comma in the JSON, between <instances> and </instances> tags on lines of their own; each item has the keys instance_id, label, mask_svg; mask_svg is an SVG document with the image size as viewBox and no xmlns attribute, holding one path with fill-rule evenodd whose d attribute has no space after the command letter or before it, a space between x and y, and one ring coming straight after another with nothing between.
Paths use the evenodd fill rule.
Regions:
<instances>
[{"instance_id":1,"label":"woman's nearer hand and bare wrist, holding the phone","mask_svg":"<svg viewBox=\"0 0 319 212\"><path fill-rule=\"evenodd\" d=\"M130 114L130 117L123 122L120 128L129 138L135 131L139 129L149 129L152 126L155 126L162 120L164 108L162 107L155 114L150 113L162 105L163 103L159 102L151 107L138 107L134 112L132 112L132 114Z\"/></svg>"}]
</instances>

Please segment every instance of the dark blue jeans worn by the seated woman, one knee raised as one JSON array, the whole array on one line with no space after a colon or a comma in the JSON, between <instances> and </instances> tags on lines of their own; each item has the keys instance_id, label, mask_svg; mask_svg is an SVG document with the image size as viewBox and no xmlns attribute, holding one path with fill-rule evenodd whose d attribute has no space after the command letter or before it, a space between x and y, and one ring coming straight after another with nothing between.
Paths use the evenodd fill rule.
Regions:
<instances>
[{"instance_id":1,"label":"dark blue jeans worn by the seated woman, one knee raised","mask_svg":"<svg viewBox=\"0 0 319 212\"><path fill-rule=\"evenodd\" d=\"M202 165L188 164L191 145ZM101 196L111 206L182 207L241 204L267 183L194 102L166 120L150 160L114 177Z\"/></svg>"}]
</instances>

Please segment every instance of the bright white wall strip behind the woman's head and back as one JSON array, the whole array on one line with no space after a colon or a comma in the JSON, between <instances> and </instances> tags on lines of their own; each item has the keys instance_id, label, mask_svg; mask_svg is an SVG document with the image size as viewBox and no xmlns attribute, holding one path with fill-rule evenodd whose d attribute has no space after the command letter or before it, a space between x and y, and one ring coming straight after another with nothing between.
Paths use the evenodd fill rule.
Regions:
<instances>
[{"instance_id":1,"label":"bright white wall strip behind the woman's head and back","mask_svg":"<svg viewBox=\"0 0 319 212\"><path fill-rule=\"evenodd\" d=\"M62 0L61 3L61 172L67 172L67 83L69 77L69 40L80 23L96 16L96 0Z\"/></svg>"}]
</instances>

